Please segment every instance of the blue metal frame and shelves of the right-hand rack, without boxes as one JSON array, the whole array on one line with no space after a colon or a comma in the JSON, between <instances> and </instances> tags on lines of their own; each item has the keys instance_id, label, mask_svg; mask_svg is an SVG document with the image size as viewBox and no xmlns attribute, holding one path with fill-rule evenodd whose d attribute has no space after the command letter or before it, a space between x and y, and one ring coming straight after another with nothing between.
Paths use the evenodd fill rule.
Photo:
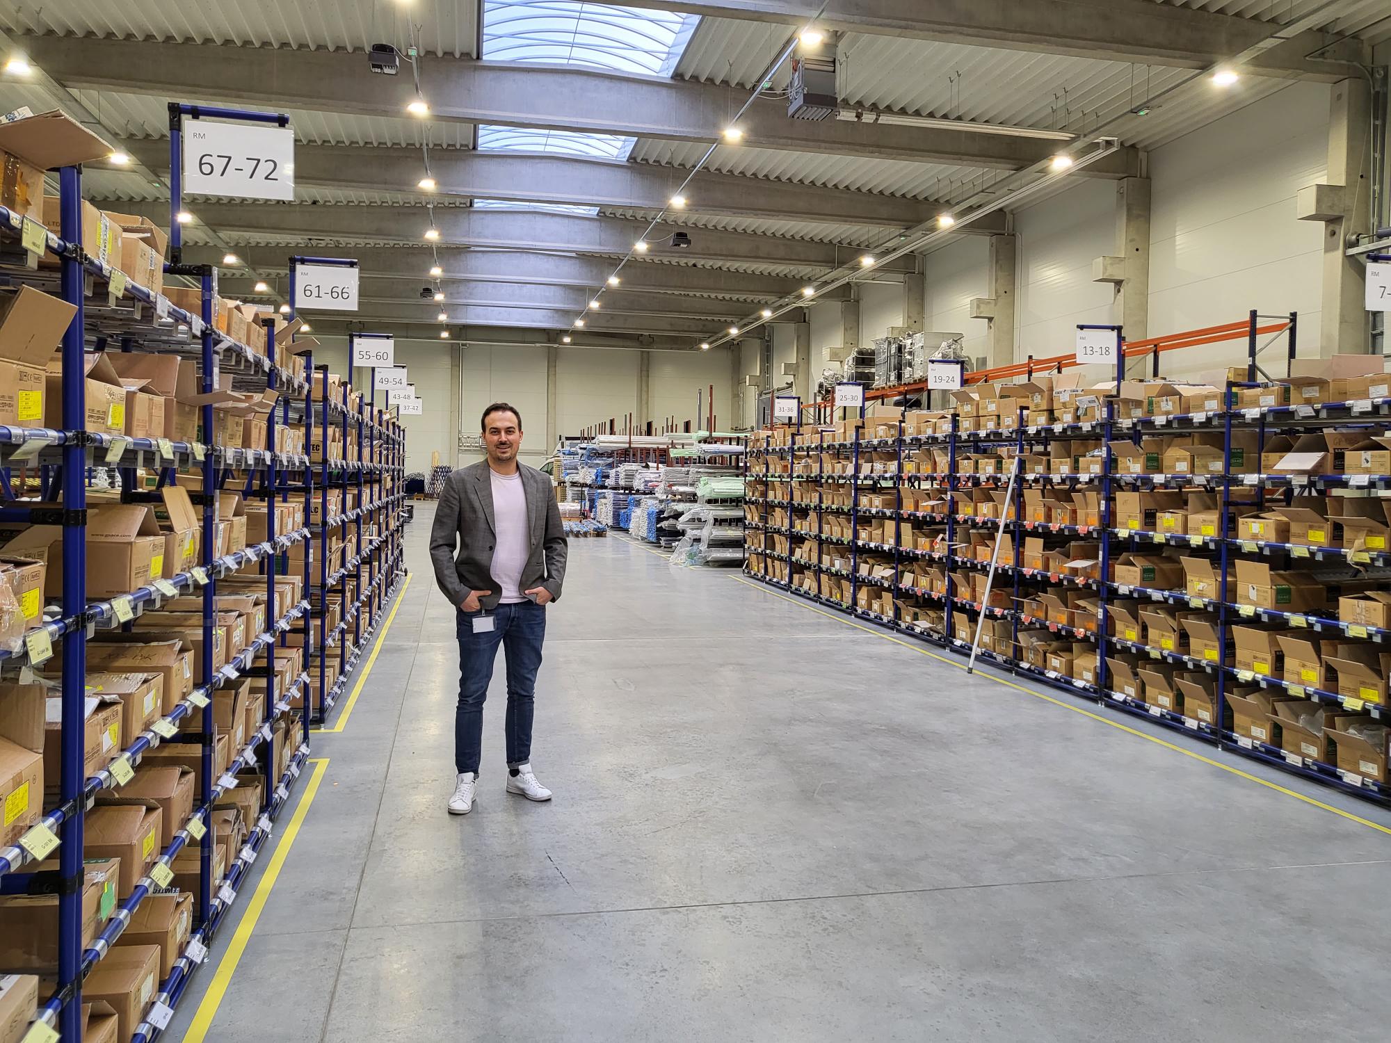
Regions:
<instances>
[{"instance_id":1,"label":"blue metal frame and shelves of the right-hand rack, without boxes","mask_svg":"<svg viewBox=\"0 0 1391 1043\"><path fill-rule=\"evenodd\" d=\"M1053 670L1039 669L1034 665L1021 662L1013 656L997 655L990 651L982 651L979 658L989 665L1018 674L1027 676L1031 680L1060 688L1072 695L1078 695L1093 702L1097 702L1109 709L1120 711L1128 715L1142 716L1153 723L1181 731L1185 736L1209 743L1223 751L1228 751L1241 757L1252 758L1263 763L1273 765L1283 770L1299 775L1306 779L1313 779L1323 784L1340 789L1345 793L1353 794L1359 798L1374 801L1383 805L1391 804L1391 786L1384 786L1370 777L1356 776L1344 770L1340 770L1335 765L1317 761L1309 757L1296 757L1289 754L1280 747L1270 745L1252 740L1249 737L1238 736L1232 727L1228 726L1227 713L1227 693L1231 686L1237 683L1242 684L1257 684L1266 688L1278 688L1288 691L1294 695L1313 700L1326 704L1338 704L1348 709L1362 712L1366 711L1374 718L1385 720L1391 716L1391 708L1365 701L1365 700L1351 700L1342 697L1333 691L1326 691L1314 686L1301 686L1291 684L1281 679L1257 674L1251 670L1238 670L1237 668L1228 665L1227 662L1207 662L1205 659L1195 659L1185 656L1182 654L1167 651L1163 648L1152 648L1134 641L1125 641L1110 636L1110 605L1118 597L1138 597L1149 598L1150 601L1163 601L1174 605L1184 605L1187 608L1200 608L1214 613L1219 633L1219 645L1227 648L1230 644L1231 627L1237 626L1244 620L1255 622L1283 622L1294 627L1306 627L1310 633L1326 634L1326 636L1349 636L1349 637L1369 637L1377 642L1391 641L1391 630L1378 630L1376 627L1360 627L1338 619L1320 616L1312 612L1281 612L1276 609L1255 608L1252 605L1237 604L1238 599L1232 597L1228 591L1227 580L1227 566L1228 562L1234 559L1234 555L1239 551L1244 553L1259 552L1262 555L1280 555L1280 556L1310 556L1313 559L1335 559L1341 565L1365 565L1365 566L1378 566L1391 567L1391 552L1348 552L1344 549L1323 549L1314 547L1291 547L1288 544L1273 544L1266 541L1244 541L1238 540L1237 533L1231 531L1231 517L1232 506L1239 506L1242 503L1267 503L1267 496L1276 495L1280 491L1292 491L1294 488L1328 488L1328 487L1344 487L1344 485L1367 485L1374 488L1387 490L1391 488L1391 474L1388 476L1369 476L1358 478L1356 483L1351 476L1288 476L1288 474L1255 474L1242 476L1232 474L1232 441L1234 432L1252 431L1257 435L1257 442L1264 444L1266 434L1274 432L1308 432L1317 431L1327 427L1337 426L1340 428L1348 427L1366 427L1372 430L1383 430L1388 417L1391 417L1391 396L1370 399L1362 402L1340 402L1340 403L1320 403L1319 406L1274 406L1262 409L1237 409L1237 392L1244 388L1259 387L1256 377L1256 324L1262 317L1256 313L1251 314L1251 335L1248 339L1248 370L1246 381L1228 381L1227 387L1223 389L1221 402L1227 406L1221 410L1210 410L1202 414L1182 414L1182 416L1161 416L1161 417L1138 417L1138 419L1123 419L1116 414L1114 399L1102 399L1103 413L1092 423L1077 423L1077 424L1049 424L1029 427L1025 423L1024 410L1020 412L1017 423L1013 430L1007 432L1002 431L972 431L963 432L958 428L957 419L953 417L950 432L936 434L936 435L904 435L901 423L899 426L899 435L894 438L864 438L861 431L857 430L855 435L850 441L835 441L833 437L828 437L826 432L818 431L814 426L805 428L793 428L790 444L778 446L765 441L764 445L750 446L750 460L746 463L746 481L755 483L762 495L748 496L747 502L751 503L751 509L746 512L746 528L751 538L747 540L750 562L746 566L746 573L761 583L766 583L778 590L794 594L797 597L808 598L821 605L828 605L830 608L849 612L860 619L871 620L879 626L893 630L894 633L908 634L921 641L926 641L936 647L958 652L961 655L968 655L971 651L971 641L964 641L953 636L953 622L954 616L963 611L974 613L976 617L983 612L985 615L1008 620L1013 634L1013 645L1018 647L1018 633L1020 624L1035 627L1046 627L1059 636L1070 637L1077 641L1092 641L1097 645L1097 669L1095 676L1095 683L1084 683L1081 680L1074 680L1063 676ZM1294 331L1296 328L1296 316L1291 314L1288 317L1288 357L1294 357L1295 342ZM1086 327L1086 328L1104 328L1114 330L1117 337L1120 337L1118 327ZM1124 355L1117 366L1117 377L1123 377ZM1156 374L1157 374L1157 355L1156 355ZM1111 513L1114 496L1113 492L1123 487L1129 488L1163 488L1166 485L1173 487L1188 487L1193 484L1193 476L1189 474L1175 474L1175 476L1128 476L1118 474L1114 470L1114 455L1110 451L1110 445L1114 441L1134 439L1136 444L1139 438L1145 434L1182 434L1182 432L1209 432L1220 435L1223 439L1223 474L1220 478L1209 480L1207 485L1214 492L1221 495L1221 527L1213 535L1167 535L1164 533L1148 533L1148 531L1132 531L1129 528L1121 530L1114 526L1114 519ZM970 476L957 473L957 455L960 452L972 452L982 446L999 446L1010 445L1018 452L1024 452L1029 448L1047 446L1054 441L1068 441L1068 439L1100 439L1106 448L1102 453L1102 469L1097 474L1089 474L1085 478L1078 476L1061 477L1061 476L1022 476L1022 480L1015 485L1015 498L1013 501L1014 519L1006 522L1006 528L1014 537L1014 553L1013 558L1000 562L997 566L997 583L996 590L1013 587L1011 605L1018 605L1021 599L1021 584L1029 580L1042 581L1045 584L1059 585L1067 584L1072 588L1086 588L1095 591L1099 601L1097 612L1097 631L1091 633L1079 630L1070 626L1063 626L1059 623L1049 623L1047 620L1039 620L1034 617L1022 616L1017 608L1003 608L992 605L981 605L974 602L970 597L960 597L956 590L956 576L951 567L961 569L985 569L986 562L978 562L972 558L961 556L953 553L953 548L957 547L958 534L963 527L985 526L992 531L999 527L999 520L981 520L974 516L965 515L958 509L960 496L963 492L970 494L972 487L989 487L1004 490L1007 485L1007 476ZM949 456L947 471L943 474L906 474L903 471L903 458L906 452L925 446L939 446L946 448ZM899 474L892 478L878 478L874 476L860 474L860 459L862 452L885 452L896 451ZM817 456L817 455L839 455L849 458L850 473L818 473L818 474L797 474L794 473L794 466L789 466L787 473L771 470L771 460L779 456L786 456L789 460L796 462L798 455ZM791 488L794 481L814 481L814 483L837 483L844 481L851 488L851 503L849 508L825 505L822 501L823 495L818 494L815 502L798 502L791 495ZM1085 484L1089 483L1089 484ZM940 513L924 513L915 510L903 509L903 487L925 484L933 488L939 488L946 498L946 509ZM1053 524L1053 523L1039 523L1025 517L1024 512L1024 490L1028 487L1052 487L1052 485L1067 485L1068 488L1096 488L1100 492L1100 517L1097 524L1091 526L1067 526L1067 524ZM861 491L883 488L889 491L896 490L896 508L894 509L871 509L861 505ZM1245 492L1244 492L1245 491ZM1249 495L1255 499L1241 499L1239 496ZM786 508L789 512L789 526L772 526L769 524L769 508ZM791 512L794 509L800 510L814 510L815 512L815 531L794 530L791 527ZM840 540L826 534L823 519L830 513L849 515L851 519L851 531L855 531L855 523L862 516L882 516L896 519L896 533L893 544L867 544L857 538ZM900 538L897 526L904 520L926 520L938 522L946 524L946 541L947 549L942 553L918 551L917 548L903 548L900 547ZM1081 535L1089 540L1097 541L1100 547L1100 580L1077 579L1071 576L1064 576L1059 573L1047 573L1036 569L1028 569L1022 562L1022 540L1021 537L1027 533L1040 533L1040 534L1066 534L1066 535ZM818 549L818 560L793 558L791 555L783 555L772 549L771 537L786 535L789 541L791 537L804 537L815 541ZM1153 590L1149 587L1134 587L1125 584L1117 584L1109 581L1107 577L1111 574L1111 558L1116 553L1128 551L1139 544L1174 544L1181 542L1188 548L1199 548L1205 552L1212 552L1217 555L1216 565L1219 567L1220 588L1214 598L1195 598L1182 590ZM821 563L821 548L833 544L849 544L851 552L851 567L849 570L833 569L823 566ZM789 542L789 549L794 549ZM860 551L875 551L879 553L893 553L894 579L892 581L876 581L871 577L858 574L858 555ZM778 562L787 569L787 579L780 580L771 574L775 572L769 567L758 567L755 559L764 559L765 562ZM911 560L935 560L944 563L947 566L947 587L946 594L933 592L926 588L906 585L899 581L901 569L906 562ZM796 587L791 583L793 567L801 567L804 570L812 572L817 576L837 576L850 581L850 599L849 602L842 602L835 598L825 597L819 592L805 591ZM1002 579L1003 576L1003 579ZM917 598L919 601L932 601L942 606L944 616L943 633L928 631L918 626L911 626L900 619L899 605L894 605L893 615L865 611L857 606L857 595L862 585L876 585L892 590L897 595L906 595L910 598ZM1193 718L1184 716L1177 712L1166 711L1160 706L1149 705L1138 698L1128 698L1121 693L1113 690L1107 679L1107 663L1106 663L1106 647L1135 651L1146 655L1155 661L1164 661L1173 663L1181 663L1189 669L1205 670L1209 676L1214 679L1216 701L1212 722L1203 722Z\"/></svg>"}]
</instances>

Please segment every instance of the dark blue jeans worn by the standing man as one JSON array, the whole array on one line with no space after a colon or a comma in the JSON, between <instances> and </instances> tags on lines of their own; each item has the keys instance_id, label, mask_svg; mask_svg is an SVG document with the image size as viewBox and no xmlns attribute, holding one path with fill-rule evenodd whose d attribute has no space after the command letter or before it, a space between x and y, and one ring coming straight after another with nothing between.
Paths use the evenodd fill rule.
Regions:
<instances>
[{"instance_id":1,"label":"dark blue jeans worn by the standing man","mask_svg":"<svg viewBox=\"0 0 1391 1043\"><path fill-rule=\"evenodd\" d=\"M498 645L508 658L508 768L531 759L531 718L536 709L536 673L541 669L545 609L534 601L498 605L487 613L492 630L473 631L481 612L456 611L459 634L459 705L453 715L456 770L477 773L483 755L483 702L488 698L492 661Z\"/></svg>"}]
</instances>

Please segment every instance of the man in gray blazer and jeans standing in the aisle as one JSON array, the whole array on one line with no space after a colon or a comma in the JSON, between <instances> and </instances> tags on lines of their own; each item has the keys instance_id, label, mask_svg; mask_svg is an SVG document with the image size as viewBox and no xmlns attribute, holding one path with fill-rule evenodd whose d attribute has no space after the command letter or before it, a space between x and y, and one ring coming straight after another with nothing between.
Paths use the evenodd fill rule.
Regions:
<instances>
[{"instance_id":1,"label":"man in gray blazer and jeans standing in the aisle","mask_svg":"<svg viewBox=\"0 0 1391 1043\"><path fill-rule=\"evenodd\" d=\"M565 580L565 527L551 480L517 463L522 414L505 402L483 410L487 460L460 467L440 491L430 530L435 581L456 609L459 705L451 815L473 811L483 747L483 701L498 645L508 658L508 793L548 801L531 772L531 716L545 606ZM458 545L458 558L455 547Z\"/></svg>"}]
</instances>

